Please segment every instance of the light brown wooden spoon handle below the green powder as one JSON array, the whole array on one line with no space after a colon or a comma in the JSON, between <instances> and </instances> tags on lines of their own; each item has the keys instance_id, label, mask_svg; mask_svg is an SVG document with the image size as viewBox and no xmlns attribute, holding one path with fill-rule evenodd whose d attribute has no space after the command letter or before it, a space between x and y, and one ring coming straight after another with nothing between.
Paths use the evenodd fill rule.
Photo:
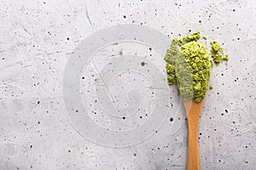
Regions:
<instances>
[{"instance_id":1,"label":"light brown wooden spoon handle below the green powder","mask_svg":"<svg viewBox=\"0 0 256 170\"><path fill-rule=\"evenodd\" d=\"M187 113L187 121L189 127L189 149L187 170L199 170L199 150L198 150L198 122L201 112L201 102L195 100L184 101L184 106Z\"/></svg>"}]
</instances>

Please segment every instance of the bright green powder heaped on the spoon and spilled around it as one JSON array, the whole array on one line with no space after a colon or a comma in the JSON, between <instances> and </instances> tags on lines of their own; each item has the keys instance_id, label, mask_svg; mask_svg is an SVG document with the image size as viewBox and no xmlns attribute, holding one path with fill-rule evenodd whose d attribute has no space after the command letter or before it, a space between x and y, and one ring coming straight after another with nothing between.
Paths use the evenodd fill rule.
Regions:
<instances>
[{"instance_id":1,"label":"bright green powder heaped on the spoon and spilled around it","mask_svg":"<svg viewBox=\"0 0 256 170\"><path fill-rule=\"evenodd\" d=\"M219 64L222 60L228 60L228 55L223 54L223 48L215 41L211 42L211 60L207 48L197 42L200 38L199 31L180 39L174 38L166 52L168 85L177 84L178 94L181 94L184 101L194 99L200 102L204 99L213 63Z\"/></svg>"}]
</instances>

